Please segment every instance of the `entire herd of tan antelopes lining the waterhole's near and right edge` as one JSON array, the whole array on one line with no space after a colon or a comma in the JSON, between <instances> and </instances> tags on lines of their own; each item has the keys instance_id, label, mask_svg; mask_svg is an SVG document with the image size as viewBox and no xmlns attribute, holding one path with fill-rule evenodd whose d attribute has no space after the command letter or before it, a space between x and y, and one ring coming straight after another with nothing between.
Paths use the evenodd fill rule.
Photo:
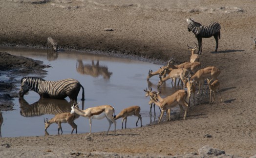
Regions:
<instances>
[{"instance_id":1,"label":"entire herd of tan antelopes lining the waterhole's near and right edge","mask_svg":"<svg viewBox=\"0 0 256 158\"><path fill-rule=\"evenodd\" d=\"M167 113L167 121L171 120L171 108L179 105L180 107L180 113L179 116L183 114L183 109L185 109L185 113L183 116L183 119L186 119L187 113L189 111L190 107L190 100L191 95L193 95L193 105L195 105L195 91L198 89L197 94L203 94L203 85L205 80L207 79L207 84L210 90L210 104L213 103L215 100L215 94L216 92L219 92L220 88L220 82L217 79L217 77L220 74L220 69L214 67L214 66L208 66L205 68L201 68L201 63L199 62L199 56L197 54L194 54L194 51L196 50L197 45L195 47L190 47L188 45L188 49L191 51L191 58L190 62L184 62L181 64L175 64L174 58L171 57L171 59L168 61L168 64L166 66L160 67L157 71L153 72L151 69L149 69L149 75L147 77L147 80L149 80L151 77L158 75L160 80L158 82L157 87L159 88L165 81L168 79L174 80L174 87L176 86L176 79L179 79L179 82L183 84L183 89L177 90L175 93L173 93L170 96L167 96L165 98L162 98L160 96L161 92L158 91L152 91L152 88L149 87L149 89L144 89L145 97L149 97L149 104L150 104L150 111L149 115L152 115L152 107L154 107L154 115L155 113L155 105L159 107L161 111L160 119L158 120L158 123L161 122L163 119L164 113ZM198 85L198 88L197 88ZM185 90L186 89L186 90ZM220 99L222 101L222 98L220 96ZM79 103L78 103L79 104ZM107 118L109 122L109 127L106 132L106 135L109 132L109 129L111 127L111 124L114 123L114 134L116 134L116 120L122 119L122 129L123 124L125 121L125 128L127 123L127 117L129 116L136 116L138 117L136 121L136 126L138 126L138 121L140 120L140 125L142 127L142 117L140 114L140 106L130 106L126 109L123 109L118 115L115 114L115 109L110 105L101 105L96 107L90 107L85 110L80 110L78 108L78 104L71 107L70 113L62 113L57 114L54 118L50 119L44 119L45 124L45 132L46 129L50 126L52 123L57 123L59 125L58 127L58 134L61 130L62 132L62 126L61 123L68 123L72 127L71 134L73 133L74 129L76 129L77 133L77 125L74 123L74 120L79 118L80 116L88 118L89 119L89 125L90 125L90 132L88 136L91 134L91 124L92 119L104 119ZM62 134L62 133L61 133Z\"/></svg>"}]
</instances>

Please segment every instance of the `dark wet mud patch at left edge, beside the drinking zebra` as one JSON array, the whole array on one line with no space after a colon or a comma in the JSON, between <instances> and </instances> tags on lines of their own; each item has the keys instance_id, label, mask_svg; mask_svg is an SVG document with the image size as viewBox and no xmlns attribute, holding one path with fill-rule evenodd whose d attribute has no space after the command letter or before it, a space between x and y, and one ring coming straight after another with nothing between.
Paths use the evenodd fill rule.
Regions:
<instances>
[{"instance_id":1,"label":"dark wet mud patch at left edge, beside the drinking zebra","mask_svg":"<svg viewBox=\"0 0 256 158\"><path fill-rule=\"evenodd\" d=\"M50 66L44 65L39 60L0 52L0 110L13 110L12 100L18 97L17 86L22 77L28 75L43 77L46 75L43 69L47 67Z\"/></svg>"}]
</instances>

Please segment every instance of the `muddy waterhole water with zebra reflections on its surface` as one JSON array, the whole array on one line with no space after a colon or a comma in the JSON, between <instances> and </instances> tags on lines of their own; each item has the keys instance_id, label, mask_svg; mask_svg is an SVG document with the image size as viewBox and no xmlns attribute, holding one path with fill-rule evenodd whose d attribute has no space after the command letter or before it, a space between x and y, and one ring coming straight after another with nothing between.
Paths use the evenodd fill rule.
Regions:
<instances>
[{"instance_id":1,"label":"muddy waterhole water with zebra reflections on its surface","mask_svg":"<svg viewBox=\"0 0 256 158\"><path fill-rule=\"evenodd\" d=\"M98 105L111 105L115 108L117 115L128 106L138 105L141 107L142 125L146 126L158 120L160 110L156 107L156 117L149 115L149 98L145 97L143 89L152 87L157 91L158 76L147 81L149 69L153 71L162 65L156 65L139 60L122 59L103 55L90 54L80 51L63 51L52 53L44 49L14 49L1 48L12 55L24 56L43 61L44 64L52 66L46 68L45 80L60 80L73 78L80 81L85 88L85 101L82 103L82 89L78 95L80 109ZM30 76L35 76L31 74ZM20 87L20 85L17 85ZM166 97L173 93L171 79L163 84L159 90L161 96ZM2 112L4 122L2 125L2 137L42 136L44 132L44 118L51 119L57 113L70 112L71 103L69 98L65 100L40 99L39 95L29 91L23 99L14 100L15 110ZM172 114L177 109L172 110ZM128 117L127 128L136 127L137 117ZM89 132L89 119L80 117L75 120L78 125L78 133ZM121 129L122 119L117 120L117 129ZM71 133L71 126L62 123L63 134ZM92 120L92 133L106 131L107 119ZM114 130L114 125L110 131ZM51 124L47 129L49 135L58 133L58 125Z\"/></svg>"}]
</instances>

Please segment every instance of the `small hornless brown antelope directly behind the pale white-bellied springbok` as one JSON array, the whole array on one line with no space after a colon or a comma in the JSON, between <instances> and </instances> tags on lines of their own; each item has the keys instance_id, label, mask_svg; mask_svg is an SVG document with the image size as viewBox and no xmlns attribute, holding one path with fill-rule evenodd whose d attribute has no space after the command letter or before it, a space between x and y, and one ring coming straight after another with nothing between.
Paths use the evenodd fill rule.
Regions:
<instances>
[{"instance_id":1,"label":"small hornless brown antelope directly behind the pale white-bellied springbok","mask_svg":"<svg viewBox=\"0 0 256 158\"><path fill-rule=\"evenodd\" d=\"M123 118L122 119L122 129L123 129L124 120L126 120L126 122L127 122L127 117L132 116L132 115L138 117L138 120L136 121L136 126L138 126L138 121L140 119L140 126L142 127L142 118L140 115L140 107L139 106L130 106L126 109L123 109L117 116L114 116L114 119L117 120L117 119ZM125 129L126 129L126 124L125 124Z\"/></svg>"}]
</instances>

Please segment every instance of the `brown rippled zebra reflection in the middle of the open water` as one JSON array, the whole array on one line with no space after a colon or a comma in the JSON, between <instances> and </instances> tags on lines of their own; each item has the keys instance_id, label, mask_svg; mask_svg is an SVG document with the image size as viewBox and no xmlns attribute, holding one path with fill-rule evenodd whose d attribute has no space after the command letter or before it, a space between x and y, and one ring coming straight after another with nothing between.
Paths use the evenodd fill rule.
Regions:
<instances>
[{"instance_id":1,"label":"brown rippled zebra reflection in the middle of the open water","mask_svg":"<svg viewBox=\"0 0 256 158\"><path fill-rule=\"evenodd\" d=\"M112 75L111 72L108 72L107 66L100 66L99 60L97 60L96 65L94 60L91 60L91 64L83 64L82 60L77 60L78 65L76 65L76 71L82 75L90 75L92 77L103 76L104 79L109 79Z\"/></svg>"}]
</instances>

